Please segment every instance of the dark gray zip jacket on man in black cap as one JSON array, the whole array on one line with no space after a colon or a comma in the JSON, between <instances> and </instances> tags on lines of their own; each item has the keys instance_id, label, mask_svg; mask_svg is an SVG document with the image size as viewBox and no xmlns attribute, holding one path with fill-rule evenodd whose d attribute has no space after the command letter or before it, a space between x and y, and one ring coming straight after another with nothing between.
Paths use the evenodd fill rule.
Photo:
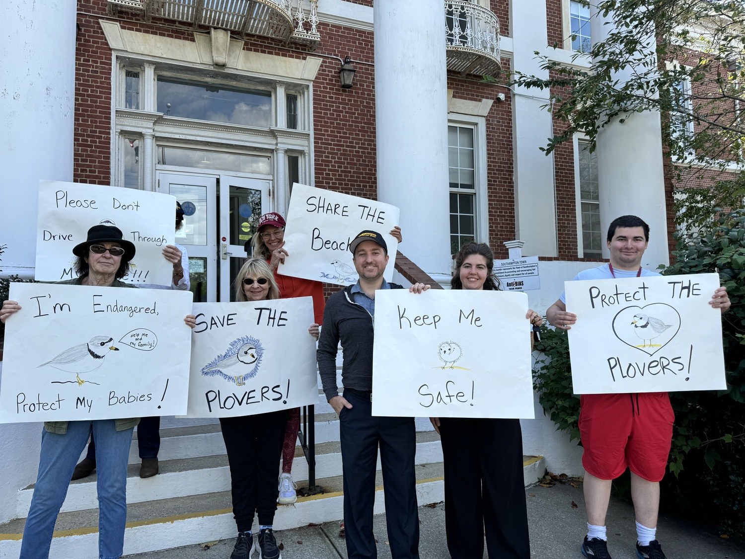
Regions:
<instances>
[{"instance_id":1,"label":"dark gray zip jacket on man in black cap","mask_svg":"<svg viewBox=\"0 0 745 559\"><path fill-rule=\"evenodd\" d=\"M391 289L401 285L388 283ZM364 306L352 300L352 287L337 291L326 302L323 328L316 353L318 371L326 400L339 395L336 385L336 354L341 341L344 350L341 370L346 388L369 391L373 389L373 316Z\"/></svg>"}]
</instances>

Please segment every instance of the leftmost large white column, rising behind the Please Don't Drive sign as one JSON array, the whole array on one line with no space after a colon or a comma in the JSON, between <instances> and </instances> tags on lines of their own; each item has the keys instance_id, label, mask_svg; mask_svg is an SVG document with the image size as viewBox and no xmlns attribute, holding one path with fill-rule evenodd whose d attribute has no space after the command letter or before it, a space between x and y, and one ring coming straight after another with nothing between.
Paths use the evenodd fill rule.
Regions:
<instances>
[{"instance_id":1,"label":"leftmost large white column, rising behind the Please Don't Drive sign","mask_svg":"<svg viewBox=\"0 0 745 559\"><path fill-rule=\"evenodd\" d=\"M75 16L72 1L0 3L4 275L33 275L39 180L72 181Z\"/></svg>"}]
</instances>

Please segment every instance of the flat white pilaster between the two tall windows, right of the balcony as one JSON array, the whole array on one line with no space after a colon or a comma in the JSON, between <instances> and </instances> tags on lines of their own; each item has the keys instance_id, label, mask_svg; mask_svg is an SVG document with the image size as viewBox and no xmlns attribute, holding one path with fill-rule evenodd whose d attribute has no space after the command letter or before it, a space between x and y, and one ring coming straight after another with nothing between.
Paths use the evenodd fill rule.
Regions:
<instances>
[{"instance_id":1,"label":"flat white pilaster between the two tall windows, right of the balcony","mask_svg":"<svg viewBox=\"0 0 745 559\"><path fill-rule=\"evenodd\" d=\"M548 78L534 51L546 44L545 0L510 3L513 13L513 65L527 75ZM507 29L507 22L500 22ZM515 181L516 239L524 241L527 255L558 256L554 156L540 148L553 136L548 90L516 88L513 92L513 173ZM495 243L504 239L494 239Z\"/></svg>"}]
</instances>

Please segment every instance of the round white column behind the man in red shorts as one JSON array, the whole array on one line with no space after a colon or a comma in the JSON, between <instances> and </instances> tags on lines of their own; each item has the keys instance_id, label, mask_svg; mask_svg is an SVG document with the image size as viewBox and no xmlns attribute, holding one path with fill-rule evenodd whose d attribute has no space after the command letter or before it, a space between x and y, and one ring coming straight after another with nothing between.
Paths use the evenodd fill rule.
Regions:
<instances>
[{"instance_id":1,"label":"round white column behind the man in red shorts","mask_svg":"<svg viewBox=\"0 0 745 559\"><path fill-rule=\"evenodd\" d=\"M590 34L592 42L600 42L612 31L612 14L603 18L590 4ZM654 45L650 37L649 45ZM655 59L653 48L648 51ZM615 79L623 83L630 79L630 70L618 72ZM665 175L662 168L662 126L658 111L624 114L618 121L597 133L597 183L600 198L600 225L605 232L620 215L638 215L650 226L650 244L644 253L644 268L654 270L669 264L668 221L665 209Z\"/></svg>"}]
</instances>

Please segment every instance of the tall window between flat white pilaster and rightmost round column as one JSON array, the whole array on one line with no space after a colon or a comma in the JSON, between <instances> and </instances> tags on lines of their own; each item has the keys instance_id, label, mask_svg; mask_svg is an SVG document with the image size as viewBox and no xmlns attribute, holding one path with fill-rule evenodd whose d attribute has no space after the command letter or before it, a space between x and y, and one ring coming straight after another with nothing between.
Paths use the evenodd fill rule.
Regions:
<instances>
[{"instance_id":1,"label":"tall window between flat white pilaster and rightmost round column","mask_svg":"<svg viewBox=\"0 0 745 559\"><path fill-rule=\"evenodd\" d=\"M589 142L578 139L577 150L577 213L581 224L582 256L599 258L603 254L603 231L600 228L600 195L597 185L597 154L590 152Z\"/></svg>"}]
</instances>

